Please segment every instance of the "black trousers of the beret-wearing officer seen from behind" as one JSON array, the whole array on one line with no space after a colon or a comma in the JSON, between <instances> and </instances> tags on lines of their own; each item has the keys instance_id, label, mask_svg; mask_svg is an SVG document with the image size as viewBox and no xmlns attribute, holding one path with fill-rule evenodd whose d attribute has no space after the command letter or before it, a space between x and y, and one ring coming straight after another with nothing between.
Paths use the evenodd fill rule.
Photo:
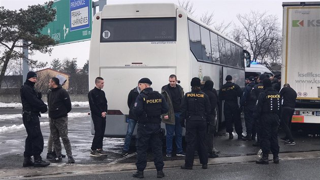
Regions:
<instances>
[{"instance_id":1,"label":"black trousers of the beret-wearing officer seen from behind","mask_svg":"<svg viewBox=\"0 0 320 180\"><path fill-rule=\"evenodd\" d=\"M143 171L146 168L147 151L150 145L153 153L154 166L157 171L161 171L165 165L162 159L161 125L153 123L138 123L138 135L136 138L137 170Z\"/></svg>"}]
</instances>

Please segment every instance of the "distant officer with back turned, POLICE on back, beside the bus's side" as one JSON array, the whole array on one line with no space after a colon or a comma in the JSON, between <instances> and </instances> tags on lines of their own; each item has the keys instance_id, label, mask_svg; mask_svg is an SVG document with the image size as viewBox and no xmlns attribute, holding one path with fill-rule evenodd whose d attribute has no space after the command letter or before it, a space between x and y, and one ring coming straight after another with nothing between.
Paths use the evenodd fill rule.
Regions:
<instances>
[{"instance_id":1,"label":"distant officer with back turned, POLICE on back, beside the bus's side","mask_svg":"<svg viewBox=\"0 0 320 180\"><path fill-rule=\"evenodd\" d=\"M227 75L226 84L223 84L219 92L219 100L225 100L223 113L225 114L227 133L229 133L229 139L233 139L233 126L238 134L238 139L242 136L242 123L241 123L241 112L238 105L238 97L241 97L242 90L238 84L232 81L232 76Z\"/></svg>"}]
</instances>

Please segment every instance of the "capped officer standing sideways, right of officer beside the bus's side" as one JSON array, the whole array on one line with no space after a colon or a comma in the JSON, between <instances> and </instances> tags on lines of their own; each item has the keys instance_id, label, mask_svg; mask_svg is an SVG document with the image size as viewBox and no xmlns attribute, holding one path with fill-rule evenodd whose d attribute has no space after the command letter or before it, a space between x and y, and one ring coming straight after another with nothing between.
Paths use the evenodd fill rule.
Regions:
<instances>
[{"instance_id":1,"label":"capped officer standing sideways, right of officer beside the bus's side","mask_svg":"<svg viewBox=\"0 0 320 180\"><path fill-rule=\"evenodd\" d=\"M249 80L249 83L248 85L245 86L242 97L240 99L240 106L244 107L244 120L245 120L246 132L247 132L247 135L245 137L242 137L242 140L244 141L251 140L253 111L254 111L254 106L256 102L256 100L251 97L251 90L255 85L255 78L253 76L250 76L248 80Z\"/></svg>"}]
</instances>

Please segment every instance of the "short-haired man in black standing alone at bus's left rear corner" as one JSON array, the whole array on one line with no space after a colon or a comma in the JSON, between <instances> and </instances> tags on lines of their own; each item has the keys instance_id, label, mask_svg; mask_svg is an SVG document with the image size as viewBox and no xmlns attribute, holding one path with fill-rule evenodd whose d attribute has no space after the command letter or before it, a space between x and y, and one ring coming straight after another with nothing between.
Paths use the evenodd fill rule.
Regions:
<instances>
[{"instance_id":1,"label":"short-haired man in black standing alone at bus's left rear corner","mask_svg":"<svg viewBox=\"0 0 320 180\"><path fill-rule=\"evenodd\" d=\"M102 148L106 130L108 102L105 92L101 90L105 85L103 78L97 77L94 82L95 87L88 93L91 118L94 125L94 137L92 140L90 156L101 157L108 155Z\"/></svg>"}]
</instances>

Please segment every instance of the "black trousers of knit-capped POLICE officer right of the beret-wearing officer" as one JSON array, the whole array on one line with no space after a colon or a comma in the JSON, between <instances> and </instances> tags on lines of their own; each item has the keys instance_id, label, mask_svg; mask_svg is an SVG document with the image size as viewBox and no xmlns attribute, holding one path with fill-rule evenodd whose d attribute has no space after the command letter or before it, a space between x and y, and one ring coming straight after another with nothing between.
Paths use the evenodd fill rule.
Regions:
<instances>
[{"instance_id":1,"label":"black trousers of knit-capped POLICE officer right of the beret-wearing officer","mask_svg":"<svg viewBox=\"0 0 320 180\"><path fill-rule=\"evenodd\" d=\"M208 151L206 145L206 121L186 121L185 141L187 143L185 166L193 167L195 150L198 150L201 164L208 164ZM197 147L198 146L198 147Z\"/></svg>"}]
</instances>

